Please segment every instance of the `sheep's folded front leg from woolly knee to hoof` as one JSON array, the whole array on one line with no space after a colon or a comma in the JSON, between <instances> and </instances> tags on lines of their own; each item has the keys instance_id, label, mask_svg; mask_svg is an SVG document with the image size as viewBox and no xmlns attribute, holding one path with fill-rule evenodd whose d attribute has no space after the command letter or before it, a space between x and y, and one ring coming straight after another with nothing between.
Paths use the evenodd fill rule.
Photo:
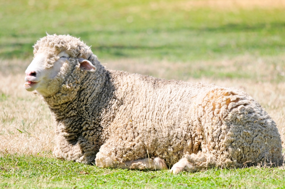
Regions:
<instances>
[{"instance_id":1,"label":"sheep's folded front leg from woolly knee to hoof","mask_svg":"<svg viewBox=\"0 0 285 189\"><path fill-rule=\"evenodd\" d=\"M125 161L119 163L115 161L111 155L104 155L98 152L95 159L97 167L122 168L122 169L138 169L138 170L160 170L167 169L164 159L156 157L154 159L139 159L134 161Z\"/></svg>"}]
</instances>

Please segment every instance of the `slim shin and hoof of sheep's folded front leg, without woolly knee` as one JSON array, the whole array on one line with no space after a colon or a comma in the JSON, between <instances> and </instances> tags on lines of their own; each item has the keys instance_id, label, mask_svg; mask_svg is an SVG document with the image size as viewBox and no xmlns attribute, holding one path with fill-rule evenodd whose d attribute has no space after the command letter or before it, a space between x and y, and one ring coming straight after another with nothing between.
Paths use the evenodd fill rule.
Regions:
<instances>
[{"instance_id":1,"label":"slim shin and hoof of sheep's folded front leg, without woolly knee","mask_svg":"<svg viewBox=\"0 0 285 189\"><path fill-rule=\"evenodd\" d=\"M122 169L139 169L139 170L160 170L167 169L164 159L156 157L154 159L139 159L135 161L126 161L120 163L118 167Z\"/></svg>"}]
</instances>

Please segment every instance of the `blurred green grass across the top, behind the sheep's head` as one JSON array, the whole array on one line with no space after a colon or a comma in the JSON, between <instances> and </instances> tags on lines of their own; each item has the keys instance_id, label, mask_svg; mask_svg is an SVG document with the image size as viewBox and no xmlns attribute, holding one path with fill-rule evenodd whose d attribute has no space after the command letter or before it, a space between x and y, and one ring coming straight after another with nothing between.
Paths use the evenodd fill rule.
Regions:
<instances>
[{"instance_id":1,"label":"blurred green grass across the top, behind the sheep's head","mask_svg":"<svg viewBox=\"0 0 285 189\"><path fill-rule=\"evenodd\" d=\"M45 32L81 37L99 59L190 61L285 52L282 8L185 10L174 7L179 2L1 1L0 57L31 57Z\"/></svg>"}]
</instances>

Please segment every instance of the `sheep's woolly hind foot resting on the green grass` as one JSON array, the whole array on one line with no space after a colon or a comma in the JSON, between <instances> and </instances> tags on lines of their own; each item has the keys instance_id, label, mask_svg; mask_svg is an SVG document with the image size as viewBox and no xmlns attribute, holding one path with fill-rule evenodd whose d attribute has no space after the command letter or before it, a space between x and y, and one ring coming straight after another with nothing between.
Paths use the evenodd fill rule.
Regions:
<instances>
[{"instance_id":1,"label":"sheep's woolly hind foot resting on the green grass","mask_svg":"<svg viewBox=\"0 0 285 189\"><path fill-rule=\"evenodd\" d=\"M213 158L207 153L199 152L198 154L185 154L177 163L173 165L170 172L178 174L181 171L188 170L190 172L196 172L201 169L207 169L209 165L212 165Z\"/></svg>"}]
</instances>

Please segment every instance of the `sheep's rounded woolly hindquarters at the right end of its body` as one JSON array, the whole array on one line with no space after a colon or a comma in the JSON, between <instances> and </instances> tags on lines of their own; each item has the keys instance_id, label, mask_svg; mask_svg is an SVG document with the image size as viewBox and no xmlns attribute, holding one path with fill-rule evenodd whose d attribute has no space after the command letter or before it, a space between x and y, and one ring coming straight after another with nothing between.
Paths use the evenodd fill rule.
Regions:
<instances>
[{"instance_id":1,"label":"sheep's rounded woolly hindquarters at the right end of its body","mask_svg":"<svg viewBox=\"0 0 285 189\"><path fill-rule=\"evenodd\" d=\"M283 163L276 124L251 96L217 87L200 102L194 109L197 128L204 135L201 152L184 155L195 165L194 171Z\"/></svg>"}]
</instances>

